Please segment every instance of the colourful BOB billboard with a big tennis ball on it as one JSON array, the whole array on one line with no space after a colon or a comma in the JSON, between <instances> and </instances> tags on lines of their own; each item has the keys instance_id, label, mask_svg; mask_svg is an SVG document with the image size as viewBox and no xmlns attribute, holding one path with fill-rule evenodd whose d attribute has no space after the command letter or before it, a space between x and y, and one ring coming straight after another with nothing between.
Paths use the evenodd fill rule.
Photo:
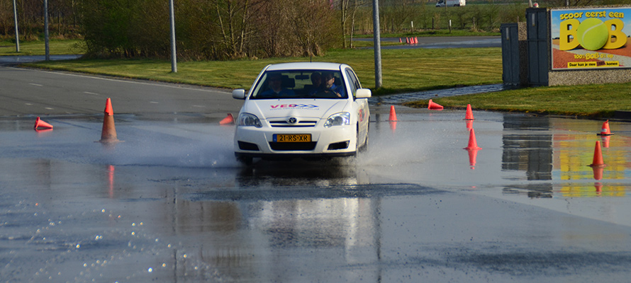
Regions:
<instances>
[{"instance_id":1,"label":"colourful BOB billboard with a big tennis ball on it","mask_svg":"<svg viewBox=\"0 0 631 283\"><path fill-rule=\"evenodd\" d=\"M631 68L631 8L553 9L550 22L552 69Z\"/></svg>"}]
</instances>

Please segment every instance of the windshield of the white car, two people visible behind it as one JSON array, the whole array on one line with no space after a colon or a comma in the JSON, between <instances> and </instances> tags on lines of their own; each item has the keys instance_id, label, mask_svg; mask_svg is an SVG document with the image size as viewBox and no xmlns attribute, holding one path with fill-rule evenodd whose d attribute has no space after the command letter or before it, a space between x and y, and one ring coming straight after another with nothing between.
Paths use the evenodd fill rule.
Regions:
<instances>
[{"instance_id":1,"label":"windshield of the white car, two people visible behind it","mask_svg":"<svg viewBox=\"0 0 631 283\"><path fill-rule=\"evenodd\" d=\"M250 99L348 98L340 71L266 71Z\"/></svg>"}]
</instances>

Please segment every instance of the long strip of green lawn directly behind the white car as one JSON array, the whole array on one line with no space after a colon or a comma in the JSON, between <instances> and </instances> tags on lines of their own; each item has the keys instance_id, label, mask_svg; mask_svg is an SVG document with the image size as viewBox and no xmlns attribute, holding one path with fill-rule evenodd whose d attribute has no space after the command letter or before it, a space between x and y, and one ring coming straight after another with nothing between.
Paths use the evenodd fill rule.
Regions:
<instances>
[{"instance_id":1,"label":"long strip of green lawn directly behind the white car","mask_svg":"<svg viewBox=\"0 0 631 283\"><path fill-rule=\"evenodd\" d=\"M466 56L462 56L463 52ZM376 91L377 94L501 83L499 48L382 50L381 59L384 87ZM175 74L171 72L169 60L157 59L77 59L27 66L220 88L250 88L259 71L267 64L308 61L308 57L294 57L178 62ZM374 88L373 50L332 50L323 57L313 58L313 61L350 64L357 71L363 86Z\"/></svg>"}]
</instances>

